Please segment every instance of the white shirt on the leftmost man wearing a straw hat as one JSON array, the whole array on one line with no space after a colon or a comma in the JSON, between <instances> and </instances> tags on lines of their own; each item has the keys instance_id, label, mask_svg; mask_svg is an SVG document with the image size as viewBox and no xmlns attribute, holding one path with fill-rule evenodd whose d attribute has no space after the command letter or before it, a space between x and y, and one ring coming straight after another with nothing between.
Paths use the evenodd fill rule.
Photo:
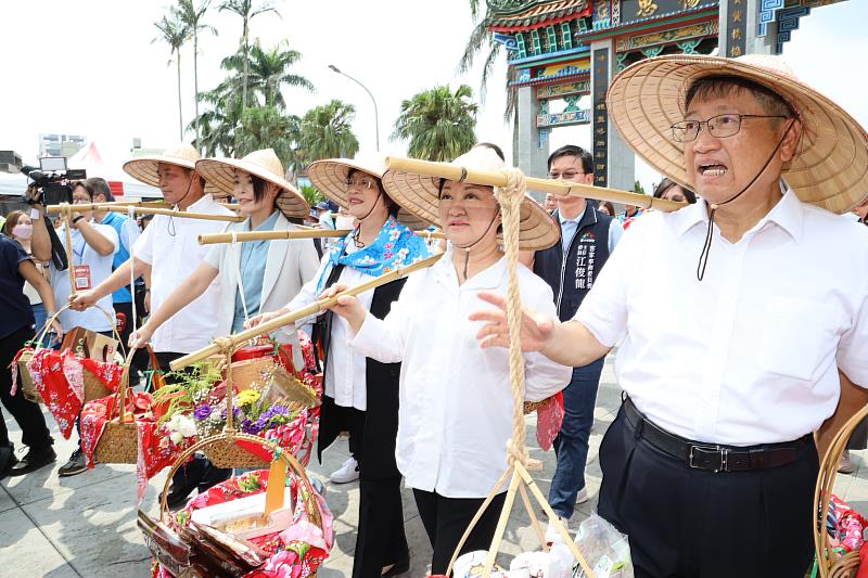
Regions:
<instances>
[{"instance_id":1,"label":"white shirt on the leftmost man wearing a straw hat","mask_svg":"<svg viewBox=\"0 0 868 578\"><path fill-rule=\"evenodd\" d=\"M232 215L212 195L188 207L190 213ZM133 256L151 266L151 310L156 311L171 292L199 267L209 247L199 244L199 235L218 233L225 221L183 219L156 215L133 246ZM231 297L230 297L231 298ZM210 343L217 335L217 310L220 285L215 279L201 296L178 311L154 332L154 351L190 354Z\"/></svg>"}]
</instances>

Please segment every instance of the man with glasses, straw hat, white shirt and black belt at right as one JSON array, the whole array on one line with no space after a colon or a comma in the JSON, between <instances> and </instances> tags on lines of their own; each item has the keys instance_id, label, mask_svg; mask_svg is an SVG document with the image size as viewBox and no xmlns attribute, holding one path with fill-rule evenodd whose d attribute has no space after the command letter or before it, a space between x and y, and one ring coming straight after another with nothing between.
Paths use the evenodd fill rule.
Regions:
<instances>
[{"instance_id":1,"label":"man with glasses, straw hat, white shirt and black belt at right","mask_svg":"<svg viewBox=\"0 0 868 578\"><path fill-rule=\"evenodd\" d=\"M575 318L528 312L522 347L583 365L623 339L599 513L636 576L802 577L812 434L868 398L868 230L834 215L868 191L868 136L775 56L642 61L608 108L702 200L634 221ZM478 338L506 346L485 298Z\"/></svg>"}]
</instances>

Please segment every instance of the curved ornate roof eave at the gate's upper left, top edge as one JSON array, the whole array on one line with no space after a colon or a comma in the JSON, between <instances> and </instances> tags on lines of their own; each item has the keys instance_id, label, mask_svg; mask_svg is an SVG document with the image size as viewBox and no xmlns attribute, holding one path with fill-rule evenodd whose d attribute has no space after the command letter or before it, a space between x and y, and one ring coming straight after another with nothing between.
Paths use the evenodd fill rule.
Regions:
<instances>
[{"instance_id":1,"label":"curved ornate roof eave at the gate's upper left, top edge","mask_svg":"<svg viewBox=\"0 0 868 578\"><path fill-rule=\"evenodd\" d=\"M488 17L486 27L490 31L510 33L525 31L560 24L570 20L588 16L591 5L588 0L553 0L553 1L511 1L487 0Z\"/></svg>"}]
</instances>

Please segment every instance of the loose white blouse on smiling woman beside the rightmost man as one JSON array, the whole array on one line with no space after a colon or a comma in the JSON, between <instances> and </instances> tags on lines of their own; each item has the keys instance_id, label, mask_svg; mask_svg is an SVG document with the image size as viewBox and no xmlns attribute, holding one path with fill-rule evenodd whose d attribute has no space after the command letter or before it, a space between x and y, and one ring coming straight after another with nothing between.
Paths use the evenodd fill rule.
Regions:
<instances>
[{"instance_id":1,"label":"loose white blouse on smiling woman beside the rightmost man","mask_svg":"<svg viewBox=\"0 0 868 578\"><path fill-rule=\"evenodd\" d=\"M524 305L554 314L551 288L519 267ZM483 498L507 467L512 434L509 351L482 349L485 309L477 293L507 293L506 259L458 284L451 249L430 269L410 275L384 320L371 314L353 339L361 355L401 361L396 458L407 485L447 498ZM538 401L570 382L572 369L524 354L525 395Z\"/></svg>"}]
</instances>

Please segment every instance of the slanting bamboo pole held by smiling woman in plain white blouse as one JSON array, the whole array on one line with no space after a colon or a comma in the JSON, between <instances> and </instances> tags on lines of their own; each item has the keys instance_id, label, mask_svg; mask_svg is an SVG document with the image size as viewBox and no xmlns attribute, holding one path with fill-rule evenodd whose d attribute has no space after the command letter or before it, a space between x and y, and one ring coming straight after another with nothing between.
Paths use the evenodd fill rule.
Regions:
<instances>
[{"instance_id":1,"label":"slanting bamboo pole held by smiling woman in plain white blouse","mask_svg":"<svg viewBox=\"0 0 868 578\"><path fill-rule=\"evenodd\" d=\"M295 322L298 319L304 319L306 317L319 313L323 311L326 308L331 307L335 303L337 303L337 298L344 295L359 295L360 293L365 293L366 291L374 290L381 285L385 285L386 283L391 283L398 279L405 278L412 273L413 271L419 271L420 269L425 269L426 267L431 267L437 259L439 259L443 254L435 255L433 257L427 257L426 259L422 259L416 261L412 265L408 265L406 267L400 267L388 273L384 273L380 277L376 277L370 281L365 283L360 283L358 285L354 285L346 291L342 291L334 297L329 297L327 299L319 299L307 307L303 307L295 311L290 311L289 313L284 313L280 317L276 317L270 321L266 321L265 323L260 323L255 327L251 327L248 330L242 331L241 333L237 333L234 335L229 335L228 337L221 337L220 339L228 339L231 347L238 347L240 344L247 342L254 337L258 337L259 335L264 335L266 333L270 333L283 325L289 325L290 323ZM209 356L215 354L219 354L224 348L227 347L227 344L214 343L207 347L203 347L199 351L193 351L192 354L186 355L181 358L176 359L169 367L173 371L178 371L181 368L186 368L191 363L195 363L196 361L201 361Z\"/></svg>"}]
</instances>

